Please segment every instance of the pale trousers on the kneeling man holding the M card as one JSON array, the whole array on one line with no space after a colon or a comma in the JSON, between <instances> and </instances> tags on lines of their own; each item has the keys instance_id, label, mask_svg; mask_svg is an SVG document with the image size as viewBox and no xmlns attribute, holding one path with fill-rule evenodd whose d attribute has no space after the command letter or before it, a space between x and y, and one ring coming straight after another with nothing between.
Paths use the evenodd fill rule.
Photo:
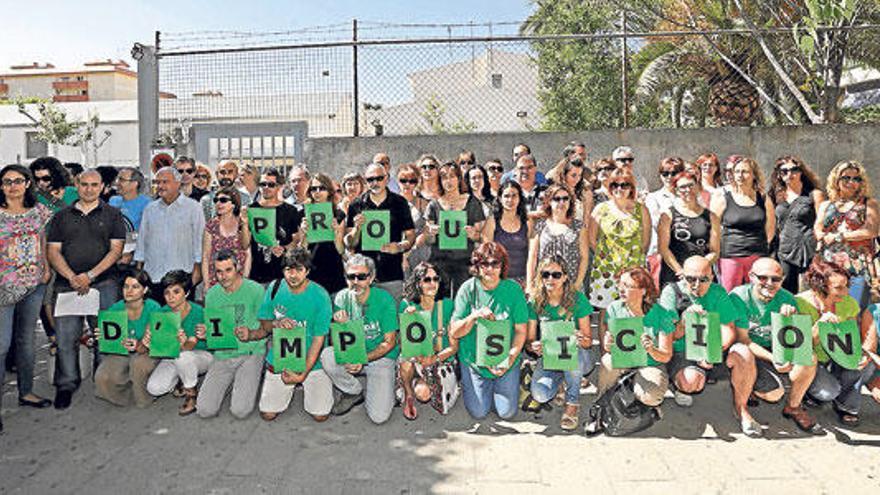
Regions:
<instances>
[{"instance_id":1,"label":"pale trousers on the kneeling man holding the M card","mask_svg":"<svg viewBox=\"0 0 880 495\"><path fill-rule=\"evenodd\" d=\"M333 409L333 382L324 370L312 370L302 383L303 409L312 416L327 416ZM287 410L293 399L296 385L281 380L281 373L266 370L263 376L263 392L260 395L260 412L280 413Z\"/></svg>"}]
</instances>

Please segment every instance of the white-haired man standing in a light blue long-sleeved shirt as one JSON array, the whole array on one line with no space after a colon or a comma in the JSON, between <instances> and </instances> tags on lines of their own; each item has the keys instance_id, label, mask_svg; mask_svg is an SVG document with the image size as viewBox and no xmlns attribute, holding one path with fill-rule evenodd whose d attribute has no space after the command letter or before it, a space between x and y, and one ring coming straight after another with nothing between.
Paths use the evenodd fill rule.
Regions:
<instances>
[{"instance_id":1,"label":"white-haired man standing in a light blue long-sleeved shirt","mask_svg":"<svg viewBox=\"0 0 880 495\"><path fill-rule=\"evenodd\" d=\"M202 280L202 236L205 215L199 204L181 192L181 175L163 168L153 180L158 199L147 205L138 231L134 260L150 274L150 297L162 299L162 277L172 270L183 270L193 286Z\"/></svg>"}]
</instances>

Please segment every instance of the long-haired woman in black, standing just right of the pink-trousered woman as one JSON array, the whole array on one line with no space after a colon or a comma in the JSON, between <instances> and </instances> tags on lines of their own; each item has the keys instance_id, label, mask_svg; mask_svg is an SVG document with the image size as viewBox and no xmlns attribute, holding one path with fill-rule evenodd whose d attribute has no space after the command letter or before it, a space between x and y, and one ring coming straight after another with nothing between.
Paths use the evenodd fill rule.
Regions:
<instances>
[{"instance_id":1,"label":"long-haired woman in black, standing just right of the pink-trousered woman","mask_svg":"<svg viewBox=\"0 0 880 495\"><path fill-rule=\"evenodd\" d=\"M769 197L776 205L776 257L782 265L782 287L797 294L800 276L816 254L816 207L825 194L815 172L800 158L786 155L776 159Z\"/></svg>"}]
</instances>

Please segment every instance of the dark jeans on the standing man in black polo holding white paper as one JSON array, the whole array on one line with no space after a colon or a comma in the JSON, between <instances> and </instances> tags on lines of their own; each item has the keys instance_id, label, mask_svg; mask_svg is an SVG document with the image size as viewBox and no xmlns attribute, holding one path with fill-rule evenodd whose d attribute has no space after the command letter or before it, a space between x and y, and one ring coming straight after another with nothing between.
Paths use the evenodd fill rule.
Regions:
<instances>
[{"instance_id":1,"label":"dark jeans on the standing man in black polo holding white paper","mask_svg":"<svg viewBox=\"0 0 880 495\"><path fill-rule=\"evenodd\" d=\"M119 298L119 286L115 280L104 280L92 286L100 294L100 308L109 308ZM58 353L55 355L55 388L59 391L73 392L79 388L79 338L82 336L83 320L97 326L94 316L60 316L55 318L55 334ZM95 353L97 356L97 353ZM96 359L97 367L97 359Z\"/></svg>"}]
</instances>

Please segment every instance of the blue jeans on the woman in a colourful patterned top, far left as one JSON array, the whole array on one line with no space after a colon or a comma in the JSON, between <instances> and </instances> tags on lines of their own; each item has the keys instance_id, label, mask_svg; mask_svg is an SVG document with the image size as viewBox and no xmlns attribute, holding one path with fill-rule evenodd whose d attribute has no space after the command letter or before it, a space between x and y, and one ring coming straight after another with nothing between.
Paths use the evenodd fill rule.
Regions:
<instances>
[{"instance_id":1,"label":"blue jeans on the woman in a colourful patterned top, far left","mask_svg":"<svg viewBox=\"0 0 880 495\"><path fill-rule=\"evenodd\" d=\"M46 286L35 287L21 301L0 306L0 366L6 362L6 353L15 339L15 368L18 371L18 396L24 397L34 389L34 331L43 305ZM3 371L3 370L0 370ZM0 373L2 378L2 373ZM0 379L0 389L3 380Z\"/></svg>"}]
</instances>

